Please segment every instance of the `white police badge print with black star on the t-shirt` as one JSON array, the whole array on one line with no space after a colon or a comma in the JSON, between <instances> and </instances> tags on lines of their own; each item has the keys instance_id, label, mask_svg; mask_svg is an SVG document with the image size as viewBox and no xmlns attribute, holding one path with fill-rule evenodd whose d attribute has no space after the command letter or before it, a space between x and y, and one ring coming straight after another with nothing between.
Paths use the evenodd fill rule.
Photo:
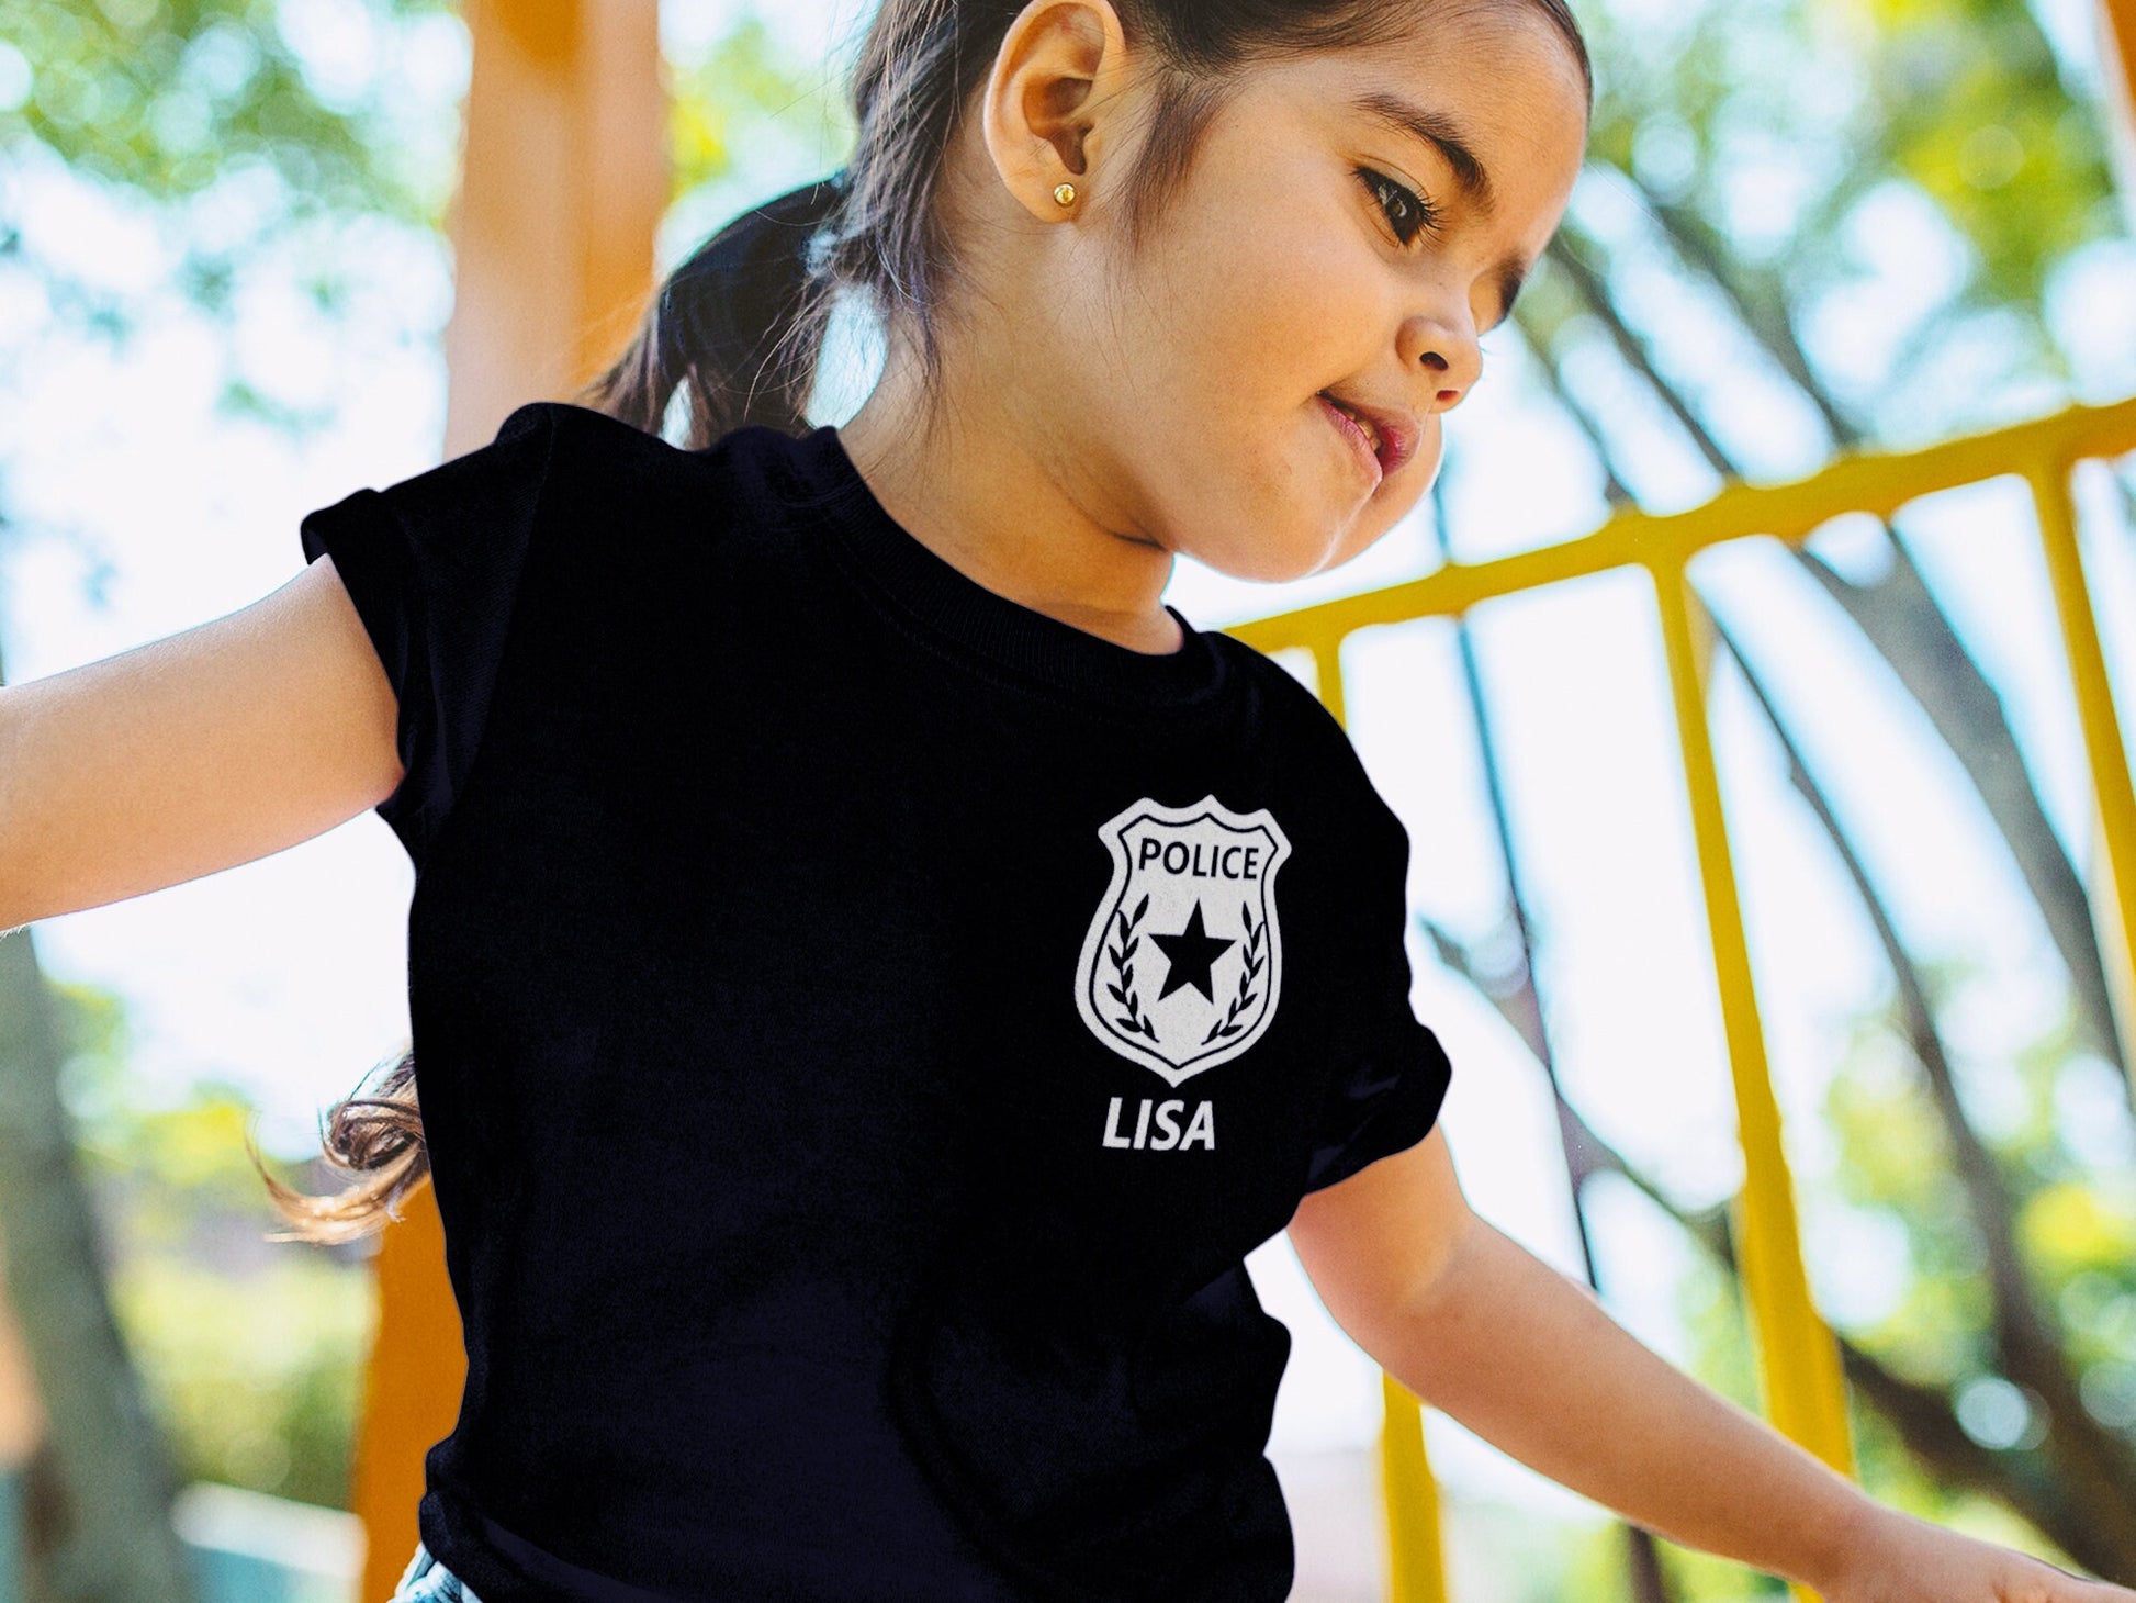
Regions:
<instances>
[{"instance_id":1,"label":"white police badge print with black star on the t-shirt","mask_svg":"<svg viewBox=\"0 0 2136 1603\"><path fill-rule=\"evenodd\" d=\"M1179 1086L1237 1058L1275 1017L1284 987L1275 870L1290 840L1267 808L1232 812L1213 795L1183 808L1143 797L1098 838L1113 855L1113 883L1083 936L1077 1011L1113 1052ZM1147 1118L1145 1105L1145 1126ZM1138 1137L1132 1146L1147 1129Z\"/></svg>"}]
</instances>

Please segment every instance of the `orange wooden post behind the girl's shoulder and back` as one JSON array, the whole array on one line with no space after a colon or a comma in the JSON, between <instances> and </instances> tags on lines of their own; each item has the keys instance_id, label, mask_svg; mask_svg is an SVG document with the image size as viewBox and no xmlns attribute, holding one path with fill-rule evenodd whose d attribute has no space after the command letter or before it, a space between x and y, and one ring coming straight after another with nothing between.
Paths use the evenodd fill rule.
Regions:
<instances>
[{"instance_id":1,"label":"orange wooden post behind the girl's shoulder and back","mask_svg":"<svg viewBox=\"0 0 2136 1603\"><path fill-rule=\"evenodd\" d=\"M453 197L444 455L487 445L530 400L560 400L622 344L654 289L669 201L666 83L651 0L466 0L474 41ZM423 1453L453 1430L466 1381L438 1203L423 1186L389 1225L355 1458L370 1537L361 1603L414 1552Z\"/></svg>"}]
</instances>

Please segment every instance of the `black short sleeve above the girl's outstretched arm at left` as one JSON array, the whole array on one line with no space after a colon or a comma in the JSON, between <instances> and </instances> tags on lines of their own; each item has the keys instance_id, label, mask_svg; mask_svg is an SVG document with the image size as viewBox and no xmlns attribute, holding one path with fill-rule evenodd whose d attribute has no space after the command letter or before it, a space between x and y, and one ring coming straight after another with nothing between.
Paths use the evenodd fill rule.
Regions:
<instances>
[{"instance_id":1,"label":"black short sleeve above the girl's outstretched arm at left","mask_svg":"<svg viewBox=\"0 0 2136 1603\"><path fill-rule=\"evenodd\" d=\"M489 445L308 513L303 560L333 569L399 701L408 769L376 806L421 872L483 737L553 457L557 404L532 402Z\"/></svg>"}]
</instances>

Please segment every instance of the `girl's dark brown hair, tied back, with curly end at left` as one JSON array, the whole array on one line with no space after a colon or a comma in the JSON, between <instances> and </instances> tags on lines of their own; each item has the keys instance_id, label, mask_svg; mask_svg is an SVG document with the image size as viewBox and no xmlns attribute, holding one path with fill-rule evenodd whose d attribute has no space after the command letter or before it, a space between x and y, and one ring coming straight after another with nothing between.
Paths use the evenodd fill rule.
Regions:
<instances>
[{"instance_id":1,"label":"girl's dark brown hair, tied back, with curly end at left","mask_svg":"<svg viewBox=\"0 0 2136 1603\"><path fill-rule=\"evenodd\" d=\"M1156 64L1149 133L1124 177L1121 216L1138 246L1188 177L1203 133L1250 66L1316 51L1376 49L1431 21L1540 11L1564 36L1593 105L1593 66L1566 0L1113 0L1121 30ZM959 269L936 192L959 118L993 71L1023 0L882 0L848 79L859 139L837 173L758 205L705 239L654 293L615 363L572 400L662 434L677 393L688 449L743 425L803 434L839 289L914 336L940 393L936 308ZM267 1178L305 1240L348 1240L397 1218L427 1173L414 1060L374 1096L333 1105L325 1150L363 1173L333 1197ZM254 1158L258 1163L258 1158ZM261 1171L265 1176L265 1169ZM288 1240L288 1235L278 1238Z\"/></svg>"}]
</instances>

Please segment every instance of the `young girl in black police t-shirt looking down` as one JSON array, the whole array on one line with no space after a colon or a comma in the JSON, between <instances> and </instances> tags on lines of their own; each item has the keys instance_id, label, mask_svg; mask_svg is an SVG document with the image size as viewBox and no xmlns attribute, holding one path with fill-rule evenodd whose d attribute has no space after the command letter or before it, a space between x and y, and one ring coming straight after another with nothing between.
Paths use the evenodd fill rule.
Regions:
<instances>
[{"instance_id":1,"label":"young girl in black police t-shirt looking down","mask_svg":"<svg viewBox=\"0 0 2136 1603\"><path fill-rule=\"evenodd\" d=\"M1410 1389L1675 1541L2136 1603L1875 1505L1467 1210L1403 825L1160 601L1416 504L1589 100L1561 0L884 0L852 162L590 404L0 695L9 923L374 804L417 866L414 1052L312 1210L427 1173L446 1225L404 1603L1284 1599L1279 1229ZM837 284L889 357L810 427Z\"/></svg>"}]
</instances>

